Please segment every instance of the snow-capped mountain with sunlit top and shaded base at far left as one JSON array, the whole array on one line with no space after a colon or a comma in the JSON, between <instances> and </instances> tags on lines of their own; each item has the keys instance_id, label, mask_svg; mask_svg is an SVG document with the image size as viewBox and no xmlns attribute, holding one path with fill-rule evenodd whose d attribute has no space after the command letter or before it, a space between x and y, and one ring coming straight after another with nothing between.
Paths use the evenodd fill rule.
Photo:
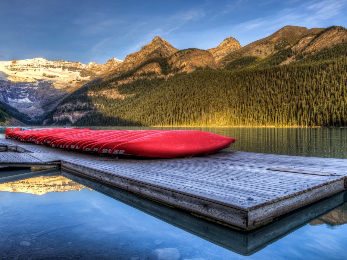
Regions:
<instances>
[{"instance_id":1,"label":"snow-capped mountain with sunlit top and shaded base at far left","mask_svg":"<svg viewBox=\"0 0 347 260\"><path fill-rule=\"evenodd\" d=\"M43 58L0 61L0 101L29 116L41 115L55 107L67 93L121 62L115 58L103 65Z\"/></svg>"}]
</instances>

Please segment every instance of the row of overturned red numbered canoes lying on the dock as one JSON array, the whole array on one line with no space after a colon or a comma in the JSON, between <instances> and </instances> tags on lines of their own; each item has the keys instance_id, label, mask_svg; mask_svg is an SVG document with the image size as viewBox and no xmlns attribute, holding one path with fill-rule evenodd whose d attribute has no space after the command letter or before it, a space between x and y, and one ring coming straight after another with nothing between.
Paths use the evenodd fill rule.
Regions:
<instances>
[{"instance_id":1,"label":"row of overturned red numbered canoes lying on the dock","mask_svg":"<svg viewBox=\"0 0 347 260\"><path fill-rule=\"evenodd\" d=\"M51 147L100 154L177 158L213 154L235 142L234 138L195 130L90 130L8 128L6 136Z\"/></svg>"}]
</instances>

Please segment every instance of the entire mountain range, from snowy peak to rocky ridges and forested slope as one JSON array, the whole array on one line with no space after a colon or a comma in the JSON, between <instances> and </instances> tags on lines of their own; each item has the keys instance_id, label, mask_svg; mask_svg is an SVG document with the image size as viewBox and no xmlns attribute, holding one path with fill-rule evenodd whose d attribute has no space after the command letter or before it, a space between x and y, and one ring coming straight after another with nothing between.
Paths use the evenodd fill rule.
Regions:
<instances>
[{"instance_id":1,"label":"entire mountain range, from snowy peak to rocky ridges and forested slope","mask_svg":"<svg viewBox=\"0 0 347 260\"><path fill-rule=\"evenodd\" d=\"M292 70L299 69L302 70L300 73L308 73L305 71L310 69L305 66L312 67L317 62L317 64L327 65L327 62L337 60L339 68L343 67L346 60L346 42L347 30L344 27L307 29L285 26L270 36L243 47L235 38L228 37L217 47L208 50L196 48L178 50L157 36L140 51L129 54L124 61L112 58L103 65L93 62L85 65L79 62L47 61L42 58L1 61L0 101L2 103L0 105L2 108L10 105L19 111L13 112L11 107L6 106L7 109L2 109L3 115L24 113L31 118L27 122L45 125L329 126L335 125L336 122L345 125L347 119L345 121L345 115L341 113L335 115L339 117L338 120L324 119L326 112L322 112L321 116L311 115L318 109L320 101L316 100L318 98L315 98L316 93L310 89L306 89L306 92L312 92L313 103L303 104L299 110L304 109L306 105L311 107L312 113L311 111L307 113L310 114L310 118L316 117L315 120L310 119L312 122L302 117L298 117L295 122L293 118L292 122L284 120L285 115L293 117L289 116L293 112L283 107L294 102L292 100L282 102L283 106L273 104L278 107L275 107L273 112L266 112L267 119L258 118L254 121L250 116L254 104L263 99L259 95L272 95L272 92L277 91L269 89L270 93L264 93L267 87L265 81L271 81L269 77L274 77L272 75L275 73L274 70L286 69L294 73ZM340 61L341 57L344 60ZM322 73L327 72L327 68L320 69L323 70L320 71ZM339 77L338 71L334 72L334 77ZM248 91L248 96L252 96L251 92L259 88L261 90L257 90L259 93L253 95L253 99L257 97L260 99L247 100L248 106L245 100L238 100L238 98L234 99L238 104L230 103L230 100L226 98L227 93L231 91L229 88L234 84L238 86L238 89L232 90L232 95L246 91L245 88L251 80L250 78L247 80L246 77L251 72L253 72L251 77L258 75L257 77L261 78L262 73L268 74L262 82L252 83L253 85L249 86L251 89ZM206 79L207 75L209 78ZM273 78L272 81L274 80L277 79ZM290 79L283 78L283 82L278 82L277 85L286 84L288 80ZM317 87L314 79L312 80L310 87ZM287 85L293 84L288 81ZM338 85L341 85L340 82ZM195 88L197 88L195 94L199 96L191 96L189 100L185 100L189 96L186 94ZM260 94L260 91L263 93ZM156 95L160 98L158 99ZM246 92L242 95L247 97ZM210 101L210 105L206 105L211 96L214 96L219 103L230 104L227 107L212 106L214 101ZM335 105L335 99L332 102L332 105ZM260 106L258 103L257 106ZM149 105L155 105L157 110L152 111L154 115L148 115L149 112L139 111L139 104L142 104L146 111L152 111ZM345 103L339 105L345 105ZM113 112L110 111L110 106ZM238 111L240 106L246 111L249 110L250 115L247 119L235 121L232 118L235 117L237 114L235 111ZM127 107L127 110L124 110L124 107ZM137 112L134 111L136 109ZM172 112L169 112L169 109ZM320 108L320 111L322 109ZM183 110L190 112L184 112L186 115L183 116ZM174 119L175 113L180 114L180 119ZM93 120L90 119L91 116ZM146 117L146 120L135 119L137 116Z\"/></svg>"}]
</instances>

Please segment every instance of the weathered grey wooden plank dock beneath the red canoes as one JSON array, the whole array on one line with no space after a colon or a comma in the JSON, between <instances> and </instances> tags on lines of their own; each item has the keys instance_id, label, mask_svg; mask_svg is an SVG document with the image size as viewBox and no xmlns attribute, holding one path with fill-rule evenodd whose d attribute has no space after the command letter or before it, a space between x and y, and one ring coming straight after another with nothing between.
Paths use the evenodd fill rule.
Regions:
<instances>
[{"instance_id":1,"label":"weathered grey wooden plank dock beneath the red canoes","mask_svg":"<svg viewBox=\"0 0 347 260\"><path fill-rule=\"evenodd\" d=\"M6 143L27 151L25 154L37 158L36 163L41 165L60 162L62 170L242 230L264 225L347 186L347 159L223 150L204 157L116 161L0 140L0 146ZM0 167L35 163L17 155L1 152Z\"/></svg>"}]
</instances>

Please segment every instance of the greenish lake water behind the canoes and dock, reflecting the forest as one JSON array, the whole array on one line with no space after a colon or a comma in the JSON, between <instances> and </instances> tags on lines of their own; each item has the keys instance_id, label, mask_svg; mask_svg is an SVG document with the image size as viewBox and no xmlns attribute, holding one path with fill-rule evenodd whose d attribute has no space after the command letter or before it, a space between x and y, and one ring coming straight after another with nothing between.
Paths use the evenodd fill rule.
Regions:
<instances>
[{"instance_id":1,"label":"greenish lake water behind the canoes and dock, reflecting the forest","mask_svg":"<svg viewBox=\"0 0 347 260\"><path fill-rule=\"evenodd\" d=\"M94 127L93 129L191 129L236 139L228 149L266 154L347 158L346 128ZM5 128L0 128L1 133ZM4 136L4 135L3 135Z\"/></svg>"}]
</instances>

